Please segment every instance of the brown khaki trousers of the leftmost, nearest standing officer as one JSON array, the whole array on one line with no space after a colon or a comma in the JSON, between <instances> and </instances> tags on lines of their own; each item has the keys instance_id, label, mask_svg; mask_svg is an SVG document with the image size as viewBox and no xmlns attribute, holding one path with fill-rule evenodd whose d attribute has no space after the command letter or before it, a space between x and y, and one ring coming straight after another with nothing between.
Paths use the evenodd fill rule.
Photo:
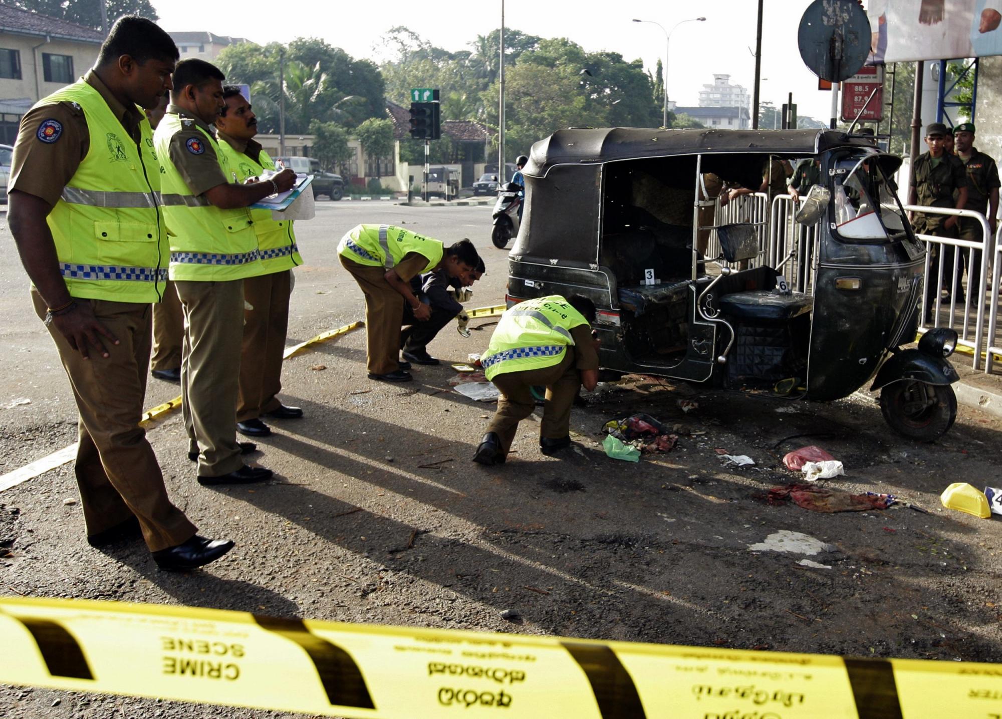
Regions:
<instances>
[{"instance_id":1,"label":"brown khaki trousers of the leftmost, nearest standing officer","mask_svg":"<svg viewBox=\"0 0 1002 719\"><path fill-rule=\"evenodd\" d=\"M31 300L44 319L45 300L35 289ZM112 344L104 339L107 360L93 348L91 358L84 360L54 325L48 327L79 412L74 472L87 536L134 515L150 552L182 544L194 535L195 527L167 498L156 455L139 427L149 365L150 305L76 301L89 302L94 316L119 340Z\"/></svg>"}]
</instances>

